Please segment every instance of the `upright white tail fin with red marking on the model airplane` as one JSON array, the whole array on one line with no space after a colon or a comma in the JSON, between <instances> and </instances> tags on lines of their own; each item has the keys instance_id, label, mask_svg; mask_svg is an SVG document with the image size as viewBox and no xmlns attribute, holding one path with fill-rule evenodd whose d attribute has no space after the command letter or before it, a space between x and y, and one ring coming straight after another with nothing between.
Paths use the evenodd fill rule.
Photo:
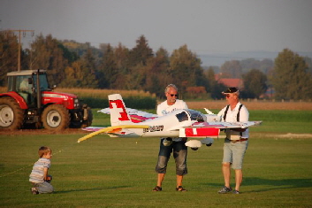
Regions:
<instances>
[{"instance_id":1,"label":"upright white tail fin with red marking on the model airplane","mask_svg":"<svg viewBox=\"0 0 312 208\"><path fill-rule=\"evenodd\" d=\"M120 94L109 95L109 102L111 127L133 124L129 113L126 112L126 104Z\"/></svg>"}]
</instances>

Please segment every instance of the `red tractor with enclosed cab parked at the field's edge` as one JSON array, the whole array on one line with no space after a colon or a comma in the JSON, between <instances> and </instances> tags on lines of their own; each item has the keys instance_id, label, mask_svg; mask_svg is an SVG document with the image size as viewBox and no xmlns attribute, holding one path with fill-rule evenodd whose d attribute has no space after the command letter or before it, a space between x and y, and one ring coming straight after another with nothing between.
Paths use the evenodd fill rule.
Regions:
<instances>
[{"instance_id":1,"label":"red tractor with enclosed cab parked at the field's edge","mask_svg":"<svg viewBox=\"0 0 312 208\"><path fill-rule=\"evenodd\" d=\"M0 129L27 127L60 130L88 127L92 112L78 96L54 92L45 70L7 73L8 90L0 94Z\"/></svg>"}]
</instances>

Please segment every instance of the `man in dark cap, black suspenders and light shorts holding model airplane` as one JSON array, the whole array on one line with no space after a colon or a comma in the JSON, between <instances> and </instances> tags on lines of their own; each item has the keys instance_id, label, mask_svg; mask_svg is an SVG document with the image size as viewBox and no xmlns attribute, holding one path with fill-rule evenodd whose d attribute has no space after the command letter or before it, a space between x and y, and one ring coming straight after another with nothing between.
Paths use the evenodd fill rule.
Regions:
<instances>
[{"instance_id":1,"label":"man in dark cap, black suspenders and light shorts holding model airplane","mask_svg":"<svg viewBox=\"0 0 312 208\"><path fill-rule=\"evenodd\" d=\"M245 105L240 104L240 91L236 88L226 89L222 94L226 97L228 105L217 115L226 122L245 122L249 119L249 112ZM225 129L224 158L222 172L224 175L224 187L218 191L219 194L232 192L240 194L240 183L243 179L242 163L248 146L248 128ZM235 170L235 189L230 186L231 166Z\"/></svg>"}]
</instances>

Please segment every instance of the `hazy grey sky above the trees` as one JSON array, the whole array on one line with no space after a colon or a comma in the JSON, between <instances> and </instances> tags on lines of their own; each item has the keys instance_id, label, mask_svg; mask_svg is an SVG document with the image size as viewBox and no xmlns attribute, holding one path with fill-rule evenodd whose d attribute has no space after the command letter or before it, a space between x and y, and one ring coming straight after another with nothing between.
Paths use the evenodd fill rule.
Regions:
<instances>
[{"instance_id":1,"label":"hazy grey sky above the trees","mask_svg":"<svg viewBox=\"0 0 312 208\"><path fill-rule=\"evenodd\" d=\"M196 54L312 51L312 0L0 0L0 30ZM25 43L24 43L25 44Z\"/></svg>"}]
</instances>

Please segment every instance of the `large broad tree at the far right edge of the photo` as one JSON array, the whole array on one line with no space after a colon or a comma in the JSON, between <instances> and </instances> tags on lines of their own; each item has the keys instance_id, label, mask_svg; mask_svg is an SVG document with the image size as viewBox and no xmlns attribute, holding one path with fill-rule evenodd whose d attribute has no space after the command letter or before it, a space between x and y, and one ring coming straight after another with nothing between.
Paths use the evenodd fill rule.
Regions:
<instances>
[{"instance_id":1,"label":"large broad tree at the far right edge of the photo","mask_svg":"<svg viewBox=\"0 0 312 208\"><path fill-rule=\"evenodd\" d=\"M285 49L275 58L272 85L277 98L308 99L312 97L312 76L304 58Z\"/></svg>"}]
</instances>

